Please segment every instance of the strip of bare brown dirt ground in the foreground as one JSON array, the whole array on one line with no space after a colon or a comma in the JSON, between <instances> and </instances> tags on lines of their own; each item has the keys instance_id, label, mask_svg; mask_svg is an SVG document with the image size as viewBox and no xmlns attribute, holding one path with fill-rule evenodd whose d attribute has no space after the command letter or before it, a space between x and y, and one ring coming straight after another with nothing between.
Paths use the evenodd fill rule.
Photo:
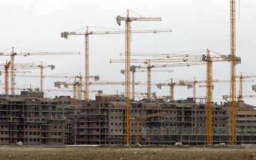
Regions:
<instances>
[{"instance_id":1,"label":"strip of bare brown dirt ground in the foreground","mask_svg":"<svg viewBox=\"0 0 256 160\"><path fill-rule=\"evenodd\" d=\"M256 146L0 146L0 159L256 159Z\"/></svg>"}]
</instances>

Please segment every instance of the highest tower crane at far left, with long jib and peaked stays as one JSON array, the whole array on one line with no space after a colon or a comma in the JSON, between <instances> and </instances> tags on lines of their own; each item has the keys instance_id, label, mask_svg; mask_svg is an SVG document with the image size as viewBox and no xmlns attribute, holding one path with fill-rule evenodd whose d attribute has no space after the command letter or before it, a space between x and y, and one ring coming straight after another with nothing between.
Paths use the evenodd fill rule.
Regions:
<instances>
[{"instance_id":1,"label":"highest tower crane at far left, with long jib and peaked stays","mask_svg":"<svg viewBox=\"0 0 256 160\"><path fill-rule=\"evenodd\" d=\"M10 53L0 53L0 56L11 56L11 95L15 95L15 65L14 65L14 56L46 56L46 55L67 55L67 54L80 54L80 52L41 52L34 51L31 49L24 49L29 52L20 52L16 53L14 47L10 48ZM7 49L6 51L10 50ZM21 49L21 48L15 48Z\"/></svg>"}]
</instances>

